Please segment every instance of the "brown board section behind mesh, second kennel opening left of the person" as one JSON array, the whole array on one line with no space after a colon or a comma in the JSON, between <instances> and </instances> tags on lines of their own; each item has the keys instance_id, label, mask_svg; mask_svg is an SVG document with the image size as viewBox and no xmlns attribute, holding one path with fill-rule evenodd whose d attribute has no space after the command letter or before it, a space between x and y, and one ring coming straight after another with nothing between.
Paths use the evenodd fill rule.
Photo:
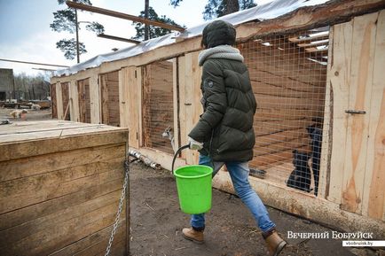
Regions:
<instances>
[{"instance_id":1,"label":"brown board section behind mesh, second kennel opening left of the person","mask_svg":"<svg viewBox=\"0 0 385 256\"><path fill-rule=\"evenodd\" d=\"M100 74L101 122L120 126L119 113L119 71Z\"/></svg>"}]
</instances>

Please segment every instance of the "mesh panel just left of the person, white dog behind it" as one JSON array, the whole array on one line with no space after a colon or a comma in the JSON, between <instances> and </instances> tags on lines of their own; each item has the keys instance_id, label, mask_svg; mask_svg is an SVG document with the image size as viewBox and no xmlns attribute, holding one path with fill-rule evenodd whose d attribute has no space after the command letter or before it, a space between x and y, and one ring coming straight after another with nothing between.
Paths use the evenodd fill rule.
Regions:
<instances>
[{"instance_id":1,"label":"mesh panel just left of the person, white dog behind it","mask_svg":"<svg viewBox=\"0 0 385 256\"><path fill-rule=\"evenodd\" d=\"M143 130L145 147L173 154L171 137L162 136L174 127L172 63L157 61L143 68Z\"/></svg>"}]
</instances>

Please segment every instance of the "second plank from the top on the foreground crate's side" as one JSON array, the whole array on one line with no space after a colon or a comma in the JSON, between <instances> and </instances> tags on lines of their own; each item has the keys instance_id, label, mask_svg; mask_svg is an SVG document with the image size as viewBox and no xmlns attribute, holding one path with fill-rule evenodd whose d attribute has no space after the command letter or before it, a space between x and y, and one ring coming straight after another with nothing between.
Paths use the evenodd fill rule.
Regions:
<instances>
[{"instance_id":1,"label":"second plank from the top on the foreground crate's side","mask_svg":"<svg viewBox=\"0 0 385 256\"><path fill-rule=\"evenodd\" d=\"M2 162L0 182L124 156L125 145L106 145ZM79 158L78 156L83 156Z\"/></svg>"}]
</instances>

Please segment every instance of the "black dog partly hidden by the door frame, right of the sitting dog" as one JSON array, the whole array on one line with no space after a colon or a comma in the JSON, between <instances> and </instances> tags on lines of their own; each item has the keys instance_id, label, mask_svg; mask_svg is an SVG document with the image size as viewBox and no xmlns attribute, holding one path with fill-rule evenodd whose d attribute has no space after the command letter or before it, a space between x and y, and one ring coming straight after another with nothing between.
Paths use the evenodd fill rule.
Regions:
<instances>
[{"instance_id":1,"label":"black dog partly hidden by the door frame, right of the sitting dog","mask_svg":"<svg viewBox=\"0 0 385 256\"><path fill-rule=\"evenodd\" d=\"M316 128L314 125L306 128L311 138L311 157L314 176L314 195L318 195L318 182L319 182L319 162L321 159L321 147L322 147L322 130Z\"/></svg>"}]
</instances>

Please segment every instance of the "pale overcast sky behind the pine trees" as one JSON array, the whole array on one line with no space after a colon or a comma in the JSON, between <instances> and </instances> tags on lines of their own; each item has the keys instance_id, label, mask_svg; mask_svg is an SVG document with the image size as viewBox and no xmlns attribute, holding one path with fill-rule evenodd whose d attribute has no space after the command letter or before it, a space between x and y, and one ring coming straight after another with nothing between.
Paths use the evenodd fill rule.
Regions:
<instances>
[{"instance_id":1,"label":"pale overcast sky behind the pine trees","mask_svg":"<svg viewBox=\"0 0 385 256\"><path fill-rule=\"evenodd\" d=\"M184 0L179 7L174 8L169 5L169 0L150 0L150 6L158 15L166 15L180 25L193 27L204 21L202 12L207 2L208 0ZM255 1L258 4L268 2L271 0ZM137 16L145 9L143 0L91 0L91 3L97 7ZM63 52L56 48L56 42L60 39L75 37L75 35L54 32L50 27L53 21L52 12L66 8L66 4L58 4L56 0L0 0L0 58L65 66L75 65L76 59L64 58ZM98 21L105 27L106 35L130 38L136 34L130 20L90 12L79 12L78 20ZM79 40L85 43L88 52L81 55L81 61L109 52L113 48L122 49L131 45L99 38L87 31L85 25L80 25ZM13 68L14 74L41 72L32 69L33 67L55 68L0 61L0 68Z\"/></svg>"}]
</instances>

